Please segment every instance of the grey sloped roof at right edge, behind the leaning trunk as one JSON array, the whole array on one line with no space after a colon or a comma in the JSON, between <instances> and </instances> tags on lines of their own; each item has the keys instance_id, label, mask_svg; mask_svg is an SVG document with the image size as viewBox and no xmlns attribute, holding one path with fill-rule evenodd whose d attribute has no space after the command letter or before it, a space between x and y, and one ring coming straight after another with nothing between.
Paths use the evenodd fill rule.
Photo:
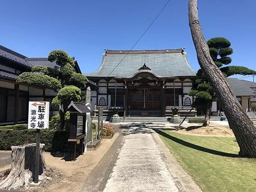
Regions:
<instances>
[{"instance_id":1,"label":"grey sloped roof at right edge, behind the leaning trunk","mask_svg":"<svg viewBox=\"0 0 256 192\"><path fill-rule=\"evenodd\" d=\"M235 96L256 96L249 86L245 85L243 81L236 78L227 78L231 89L234 91Z\"/></svg>"}]
</instances>

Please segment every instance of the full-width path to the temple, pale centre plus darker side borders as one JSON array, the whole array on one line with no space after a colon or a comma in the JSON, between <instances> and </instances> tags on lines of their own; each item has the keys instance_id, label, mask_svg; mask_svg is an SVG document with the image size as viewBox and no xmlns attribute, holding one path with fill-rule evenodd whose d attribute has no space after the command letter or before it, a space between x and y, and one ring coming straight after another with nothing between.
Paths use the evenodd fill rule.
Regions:
<instances>
[{"instance_id":1,"label":"full-width path to the temple, pale centre plus darker side borders","mask_svg":"<svg viewBox=\"0 0 256 192\"><path fill-rule=\"evenodd\" d=\"M201 192L155 132L167 128L165 124L132 123L120 128L80 192Z\"/></svg>"}]
</instances>

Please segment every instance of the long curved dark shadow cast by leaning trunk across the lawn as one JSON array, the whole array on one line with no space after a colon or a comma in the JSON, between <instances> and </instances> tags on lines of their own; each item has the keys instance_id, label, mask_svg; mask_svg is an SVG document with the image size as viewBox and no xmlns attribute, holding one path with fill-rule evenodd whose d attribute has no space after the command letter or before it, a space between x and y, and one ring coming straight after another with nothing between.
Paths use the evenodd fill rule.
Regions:
<instances>
[{"instance_id":1,"label":"long curved dark shadow cast by leaning trunk across the lawn","mask_svg":"<svg viewBox=\"0 0 256 192\"><path fill-rule=\"evenodd\" d=\"M171 136L167 133L164 133L163 131L159 130L159 129L153 129L156 133L158 133L159 135L162 135L163 137L167 138L167 139L170 139L178 144L182 144L186 147L189 147L189 148L192 148L192 149L196 149L196 150L200 150L200 151L203 151L203 152L206 152L206 153L211 153L213 155L220 155L220 156L223 156L223 157L239 157L238 154L232 154L232 153L225 153L225 152L222 152L222 151L217 151L217 150L213 150L213 149L208 149L208 148L205 148L205 147L202 147L202 146L199 146L199 145L196 145L196 144L191 144L187 141L184 141L182 139L178 139L174 136Z\"/></svg>"}]
</instances>

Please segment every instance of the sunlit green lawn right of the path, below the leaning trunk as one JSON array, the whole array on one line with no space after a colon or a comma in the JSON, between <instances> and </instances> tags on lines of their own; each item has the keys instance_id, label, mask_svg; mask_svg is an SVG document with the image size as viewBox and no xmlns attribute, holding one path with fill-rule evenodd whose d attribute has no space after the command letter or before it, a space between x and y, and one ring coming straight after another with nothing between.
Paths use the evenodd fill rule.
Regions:
<instances>
[{"instance_id":1,"label":"sunlit green lawn right of the path, below the leaning trunk","mask_svg":"<svg viewBox=\"0 0 256 192\"><path fill-rule=\"evenodd\" d=\"M239 158L234 137L158 133L204 192L256 192L256 159Z\"/></svg>"}]
</instances>

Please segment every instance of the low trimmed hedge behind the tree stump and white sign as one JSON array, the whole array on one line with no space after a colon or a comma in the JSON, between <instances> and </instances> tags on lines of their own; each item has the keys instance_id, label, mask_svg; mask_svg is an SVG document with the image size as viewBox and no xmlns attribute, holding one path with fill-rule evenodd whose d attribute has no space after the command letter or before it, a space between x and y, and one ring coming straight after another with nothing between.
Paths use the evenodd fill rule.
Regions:
<instances>
[{"instance_id":1,"label":"low trimmed hedge behind the tree stump and white sign","mask_svg":"<svg viewBox=\"0 0 256 192\"><path fill-rule=\"evenodd\" d=\"M42 129L40 143L45 144L45 151L69 151L68 136L66 131ZM11 150L11 146L27 143L36 143L35 129L0 129L0 150Z\"/></svg>"}]
</instances>

